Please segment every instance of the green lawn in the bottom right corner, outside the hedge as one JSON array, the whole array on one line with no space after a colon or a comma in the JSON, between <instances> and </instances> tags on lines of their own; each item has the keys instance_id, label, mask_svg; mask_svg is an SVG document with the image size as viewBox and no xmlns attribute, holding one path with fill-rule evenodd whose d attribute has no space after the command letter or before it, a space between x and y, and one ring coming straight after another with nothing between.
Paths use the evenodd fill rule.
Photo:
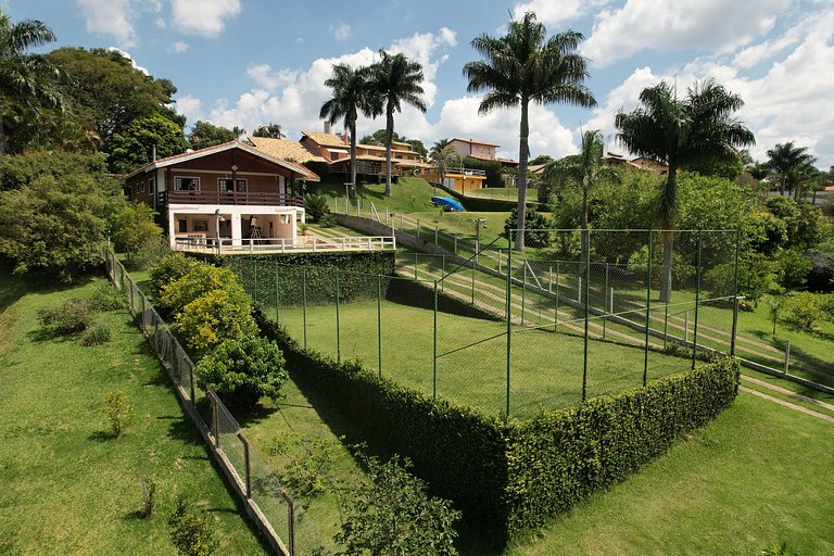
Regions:
<instances>
[{"instance_id":1,"label":"green lawn in the bottom right corner, outside the hedge","mask_svg":"<svg viewBox=\"0 0 834 556\"><path fill-rule=\"evenodd\" d=\"M508 554L753 555L780 541L800 556L834 554L833 427L740 393L712 424Z\"/></svg>"}]
</instances>

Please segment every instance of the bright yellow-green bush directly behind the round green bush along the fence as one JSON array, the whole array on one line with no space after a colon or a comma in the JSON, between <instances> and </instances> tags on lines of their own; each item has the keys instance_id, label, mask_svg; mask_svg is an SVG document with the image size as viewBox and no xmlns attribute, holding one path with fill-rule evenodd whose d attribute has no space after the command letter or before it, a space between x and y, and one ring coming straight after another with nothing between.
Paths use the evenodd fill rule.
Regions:
<instances>
[{"instance_id":1,"label":"bright yellow-green bush directly behind the round green bush along the fence","mask_svg":"<svg viewBox=\"0 0 834 556\"><path fill-rule=\"evenodd\" d=\"M242 340L256 331L252 301L235 281L202 293L175 315L175 329L198 356L226 340Z\"/></svg>"}]
</instances>

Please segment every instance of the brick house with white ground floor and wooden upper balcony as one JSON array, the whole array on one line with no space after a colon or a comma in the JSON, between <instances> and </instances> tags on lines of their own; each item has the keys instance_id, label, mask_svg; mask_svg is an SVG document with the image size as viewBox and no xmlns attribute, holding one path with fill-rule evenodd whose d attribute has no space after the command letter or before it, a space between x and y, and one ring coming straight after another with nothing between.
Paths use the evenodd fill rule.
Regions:
<instances>
[{"instance_id":1,"label":"brick house with white ground floor and wooden upper balcony","mask_svg":"<svg viewBox=\"0 0 834 556\"><path fill-rule=\"evenodd\" d=\"M151 162L124 178L125 194L153 206L178 238L247 239L280 243L298 238L304 222L301 181L318 181L304 166L230 141Z\"/></svg>"}]
</instances>

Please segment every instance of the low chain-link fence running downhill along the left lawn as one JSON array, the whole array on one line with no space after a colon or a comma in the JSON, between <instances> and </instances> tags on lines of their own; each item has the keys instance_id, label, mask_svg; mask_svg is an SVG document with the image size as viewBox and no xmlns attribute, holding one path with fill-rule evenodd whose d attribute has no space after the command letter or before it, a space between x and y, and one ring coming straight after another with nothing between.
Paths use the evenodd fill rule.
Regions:
<instances>
[{"instance_id":1,"label":"low chain-link fence running downhill along the left lawn","mask_svg":"<svg viewBox=\"0 0 834 556\"><path fill-rule=\"evenodd\" d=\"M108 275L116 288L126 290L130 312L174 381L180 403L240 494L248 514L276 553L294 555L294 501L266 459L249 444L219 397L208 386L195 380L191 358L112 251L108 253L106 263Z\"/></svg>"}]
</instances>

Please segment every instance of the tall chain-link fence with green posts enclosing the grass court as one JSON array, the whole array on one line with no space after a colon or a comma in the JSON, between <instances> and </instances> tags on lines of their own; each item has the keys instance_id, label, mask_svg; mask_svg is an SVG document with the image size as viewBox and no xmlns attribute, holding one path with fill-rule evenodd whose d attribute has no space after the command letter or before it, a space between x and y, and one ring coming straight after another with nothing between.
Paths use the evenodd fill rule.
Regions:
<instances>
[{"instance_id":1,"label":"tall chain-link fence with green posts enclosing the grass court","mask_svg":"<svg viewBox=\"0 0 834 556\"><path fill-rule=\"evenodd\" d=\"M732 351L735 231L526 236L521 252L502 238L468 258L401 253L396 276L230 264L306 348L491 414L528 417Z\"/></svg>"}]
</instances>

